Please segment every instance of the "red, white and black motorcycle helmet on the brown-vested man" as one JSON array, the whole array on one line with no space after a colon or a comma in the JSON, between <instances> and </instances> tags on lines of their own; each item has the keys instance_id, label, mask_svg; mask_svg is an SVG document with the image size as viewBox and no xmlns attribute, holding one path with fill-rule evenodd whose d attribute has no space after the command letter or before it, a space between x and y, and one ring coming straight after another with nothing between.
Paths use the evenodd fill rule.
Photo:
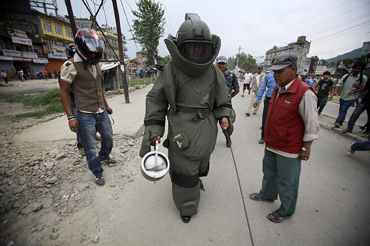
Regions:
<instances>
[{"instance_id":1,"label":"red, white and black motorcycle helmet on the brown-vested man","mask_svg":"<svg viewBox=\"0 0 370 246\"><path fill-rule=\"evenodd\" d=\"M83 28L76 33L75 47L77 54L87 64L97 64L105 53L105 45L100 35L93 29ZM96 53L91 58L89 53Z\"/></svg>"}]
</instances>

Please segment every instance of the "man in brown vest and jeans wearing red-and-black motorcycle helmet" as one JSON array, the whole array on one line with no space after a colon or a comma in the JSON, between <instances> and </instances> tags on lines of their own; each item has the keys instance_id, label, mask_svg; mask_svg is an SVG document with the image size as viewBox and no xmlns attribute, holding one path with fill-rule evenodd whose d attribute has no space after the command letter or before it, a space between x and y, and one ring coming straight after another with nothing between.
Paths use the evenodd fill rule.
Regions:
<instances>
[{"instance_id":1,"label":"man in brown vest and jeans wearing red-and-black motorcycle helmet","mask_svg":"<svg viewBox=\"0 0 370 246\"><path fill-rule=\"evenodd\" d=\"M88 167L95 175L95 183L104 185L101 162L113 165L117 161L109 158L113 147L113 131L108 114L109 107L101 87L99 61L105 45L99 34L88 28L79 30L75 36L76 53L61 67L61 99L67 114L69 129L80 132ZM75 95L78 117L72 114L68 92ZM98 156L95 154L97 131L102 138Z\"/></svg>"}]
</instances>

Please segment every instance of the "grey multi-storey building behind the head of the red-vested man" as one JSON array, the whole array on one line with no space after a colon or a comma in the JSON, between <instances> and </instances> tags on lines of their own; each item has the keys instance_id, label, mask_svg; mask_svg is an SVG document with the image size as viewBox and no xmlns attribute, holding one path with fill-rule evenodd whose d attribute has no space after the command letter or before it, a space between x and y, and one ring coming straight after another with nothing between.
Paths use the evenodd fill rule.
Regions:
<instances>
[{"instance_id":1,"label":"grey multi-storey building behind the head of the red-vested man","mask_svg":"<svg viewBox=\"0 0 370 246\"><path fill-rule=\"evenodd\" d=\"M311 42L306 40L306 36L300 36L297 42L288 44L287 46L279 47L277 49L271 49L266 52L265 55L265 70L271 67L271 60L281 53L294 53L297 55L297 73L304 71L304 65L309 52Z\"/></svg>"}]
</instances>

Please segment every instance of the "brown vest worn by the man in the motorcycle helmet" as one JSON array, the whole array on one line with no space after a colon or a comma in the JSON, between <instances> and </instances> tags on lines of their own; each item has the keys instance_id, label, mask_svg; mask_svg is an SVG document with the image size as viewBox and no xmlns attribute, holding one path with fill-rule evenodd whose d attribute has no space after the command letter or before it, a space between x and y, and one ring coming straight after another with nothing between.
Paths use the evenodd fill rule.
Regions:
<instances>
[{"instance_id":1,"label":"brown vest worn by the man in the motorcycle helmet","mask_svg":"<svg viewBox=\"0 0 370 246\"><path fill-rule=\"evenodd\" d=\"M69 60L73 63L77 71L76 78L73 80L71 86L72 92L75 94L77 109L94 113L99 108L104 109L100 65L96 65L97 77L94 78L93 74L87 68L83 68L83 62L74 62L73 57Z\"/></svg>"}]
</instances>

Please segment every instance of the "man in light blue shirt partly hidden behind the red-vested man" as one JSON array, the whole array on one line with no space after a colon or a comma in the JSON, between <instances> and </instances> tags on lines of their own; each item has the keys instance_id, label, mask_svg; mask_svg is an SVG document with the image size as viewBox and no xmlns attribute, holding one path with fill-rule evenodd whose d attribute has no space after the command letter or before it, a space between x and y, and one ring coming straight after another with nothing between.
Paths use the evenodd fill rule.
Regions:
<instances>
[{"instance_id":1,"label":"man in light blue shirt partly hidden behind the red-vested man","mask_svg":"<svg viewBox=\"0 0 370 246\"><path fill-rule=\"evenodd\" d=\"M274 59L271 60L271 66L274 64ZM272 91L276 86L275 79L273 78L274 72L270 71L266 74L264 81L262 82L262 85L260 89L258 89L255 101L253 103L253 107L256 108L258 107L258 104L260 103L261 97L263 97L266 88L266 94L265 94L265 99L264 99L264 111L262 113L262 127L261 127L261 139L258 140L258 144L263 145L265 143L265 122L267 118L267 112L270 104L270 99L272 95Z\"/></svg>"}]
</instances>

